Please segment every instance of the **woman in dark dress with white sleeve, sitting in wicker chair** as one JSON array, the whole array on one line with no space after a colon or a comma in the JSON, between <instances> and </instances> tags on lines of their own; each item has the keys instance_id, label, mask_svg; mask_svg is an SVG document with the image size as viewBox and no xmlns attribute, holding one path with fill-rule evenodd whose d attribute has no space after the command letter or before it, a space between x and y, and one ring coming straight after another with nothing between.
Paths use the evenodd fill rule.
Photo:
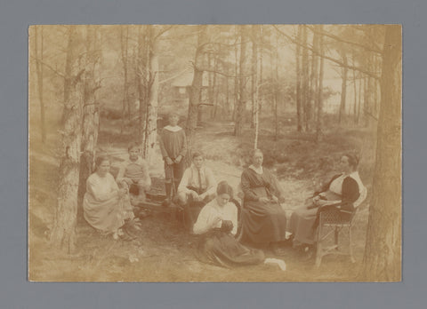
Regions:
<instances>
[{"instance_id":1,"label":"woman in dark dress with white sleeve, sitting in wicker chair","mask_svg":"<svg viewBox=\"0 0 427 309\"><path fill-rule=\"evenodd\" d=\"M306 205L292 214L290 232L294 246L304 248L307 258L313 255L319 211L338 209L342 219L350 218L353 202L359 199L364 189L357 171L358 164L359 159L355 155L343 155L340 162L342 173L335 175Z\"/></svg>"}]
</instances>

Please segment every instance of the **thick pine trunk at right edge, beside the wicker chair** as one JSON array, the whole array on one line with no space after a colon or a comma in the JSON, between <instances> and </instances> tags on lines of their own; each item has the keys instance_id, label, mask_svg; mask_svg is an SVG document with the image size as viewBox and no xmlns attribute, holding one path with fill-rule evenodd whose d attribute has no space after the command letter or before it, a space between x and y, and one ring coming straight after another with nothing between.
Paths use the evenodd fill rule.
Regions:
<instances>
[{"instance_id":1,"label":"thick pine trunk at right edge, beside the wicker chair","mask_svg":"<svg viewBox=\"0 0 427 309\"><path fill-rule=\"evenodd\" d=\"M363 280L401 280L401 27L385 26L381 106Z\"/></svg>"}]
</instances>

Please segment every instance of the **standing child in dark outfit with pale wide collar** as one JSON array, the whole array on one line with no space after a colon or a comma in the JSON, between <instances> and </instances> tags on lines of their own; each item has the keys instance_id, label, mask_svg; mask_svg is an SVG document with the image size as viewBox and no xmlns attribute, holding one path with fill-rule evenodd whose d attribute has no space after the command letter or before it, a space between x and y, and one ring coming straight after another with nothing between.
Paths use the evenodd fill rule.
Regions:
<instances>
[{"instance_id":1,"label":"standing child in dark outfit with pale wide collar","mask_svg":"<svg viewBox=\"0 0 427 309\"><path fill-rule=\"evenodd\" d=\"M179 115L169 115L169 125L160 132L160 150L165 160L166 203L172 199L172 186L178 188L185 170L184 156L187 154L187 138L178 125Z\"/></svg>"}]
</instances>

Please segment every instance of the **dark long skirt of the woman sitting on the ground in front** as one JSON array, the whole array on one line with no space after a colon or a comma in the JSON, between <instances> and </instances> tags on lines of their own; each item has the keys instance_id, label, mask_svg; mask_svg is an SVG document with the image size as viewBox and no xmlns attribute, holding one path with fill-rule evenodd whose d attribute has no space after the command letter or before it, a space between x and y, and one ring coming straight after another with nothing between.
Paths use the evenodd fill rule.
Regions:
<instances>
[{"instance_id":1,"label":"dark long skirt of the woman sitting on the ground in front","mask_svg":"<svg viewBox=\"0 0 427 309\"><path fill-rule=\"evenodd\" d=\"M249 249L232 234L219 230L210 231L199 242L197 257L205 263L234 267L261 264L265 257L262 250Z\"/></svg>"}]
</instances>

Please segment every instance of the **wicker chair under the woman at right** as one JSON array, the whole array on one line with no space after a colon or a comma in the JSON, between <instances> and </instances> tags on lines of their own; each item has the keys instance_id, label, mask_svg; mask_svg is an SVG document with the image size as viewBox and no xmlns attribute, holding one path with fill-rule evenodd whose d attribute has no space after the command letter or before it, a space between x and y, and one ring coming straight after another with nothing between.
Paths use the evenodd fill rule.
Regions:
<instances>
[{"instance_id":1,"label":"wicker chair under the woman at right","mask_svg":"<svg viewBox=\"0 0 427 309\"><path fill-rule=\"evenodd\" d=\"M349 255L351 263L355 262L352 250L351 226L355 216L360 210L360 204L367 198L367 188L363 187L360 192L359 199L353 203L355 210L351 213L350 218L342 218L342 211L339 209L331 209L320 211L317 233L317 251L316 251L316 266L320 266L322 258L329 254ZM349 252L343 252L338 248L339 235L342 230L348 232L349 236ZM334 245L326 246L325 242L330 235L334 234Z\"/></svg>"}]
</instances>

